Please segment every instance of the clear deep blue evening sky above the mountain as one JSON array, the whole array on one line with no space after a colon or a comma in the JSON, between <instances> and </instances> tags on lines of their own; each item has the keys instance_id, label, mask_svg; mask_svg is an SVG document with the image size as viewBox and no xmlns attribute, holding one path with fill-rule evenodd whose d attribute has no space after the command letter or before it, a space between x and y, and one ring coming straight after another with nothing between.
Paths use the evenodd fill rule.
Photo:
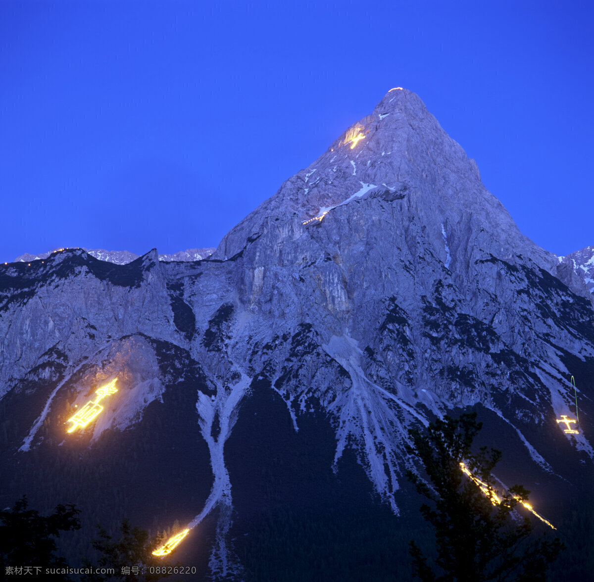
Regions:
<instances>
[{"instance_id":1,"label":"clear deep blue evening sky above the mountain","mask_svg":"<svg viewBox=\"0 0 594 582\"><path fill-rule=\"evenodd\" d=\"M533 241L594 245L592 6L0 0L0 260L216 246L395 86Z\"/></svg>"}]
</instances>

